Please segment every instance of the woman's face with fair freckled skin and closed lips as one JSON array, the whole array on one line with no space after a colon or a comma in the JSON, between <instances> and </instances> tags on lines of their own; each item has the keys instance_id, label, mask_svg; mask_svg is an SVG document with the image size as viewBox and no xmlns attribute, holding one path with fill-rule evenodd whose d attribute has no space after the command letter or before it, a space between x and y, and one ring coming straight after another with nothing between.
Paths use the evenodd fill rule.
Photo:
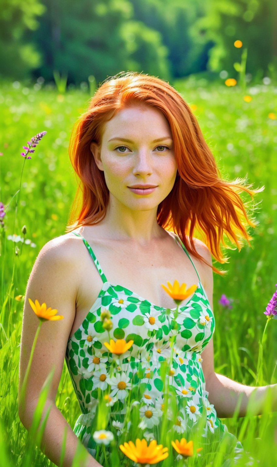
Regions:
<instances>
[{"instance_id":1,"label":"woman's face with fair freckled skin and closed lips","mask_svg":"<svg viewBox=\"0 0 277 467\"><path fill-rule=\"evenodd\" d=\"M104 171L110 200L132 210L156 208L172 190L177 173L170 126L159 109L133 105L105 123L101 148L91 143ZM134 186L141 185L140 189ZM151 185L152 189L146 189ZM144 187L144 188L143 188Z\"/></svg>"}]
</instances>

